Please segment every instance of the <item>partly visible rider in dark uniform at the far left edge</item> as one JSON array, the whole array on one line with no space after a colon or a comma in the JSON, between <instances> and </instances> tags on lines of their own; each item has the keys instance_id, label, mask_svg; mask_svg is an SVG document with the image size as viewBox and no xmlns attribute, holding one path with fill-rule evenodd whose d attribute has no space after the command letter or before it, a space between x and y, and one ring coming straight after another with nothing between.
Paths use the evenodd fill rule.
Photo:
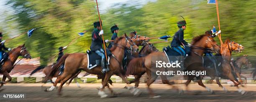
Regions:
<instances>
[{"instance_id":1,"label":"partly visible rider in dark uniform at the far left edge","mask_svg":"<svg viewBox=\"0 0 256 102\"><path fill-rule=\"evenodd\" d=\"M0 65L3 65L3 62L8 58L8 53L4 50L12 50L11 48L5 47L5 40L2 40L2 32L0 32Z\"/></svg>"}]
</instances>

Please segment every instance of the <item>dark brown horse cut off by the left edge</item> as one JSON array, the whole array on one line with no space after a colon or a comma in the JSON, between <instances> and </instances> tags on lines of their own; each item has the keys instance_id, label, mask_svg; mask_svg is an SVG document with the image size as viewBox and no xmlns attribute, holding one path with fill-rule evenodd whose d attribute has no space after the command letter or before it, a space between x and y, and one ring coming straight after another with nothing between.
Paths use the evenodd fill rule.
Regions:
<instances>
[{"instance_id":1,"label":"dark brown horse cut off by the left edge","mask_svg":"<svg viewBox=\"0 0 256 102\"><path fill-rule=\"evenodd\" d=\"M22 56L23 58L26 58L26 59L32 58L28 53L25 47L25 44L13 48L13 50L8 52L8 55L9 55L9 58L4 62L4 64L2 65L2 69L0 70L0 74L3 74L2 82L0 82L1 83L0 88L3 87L4 84L12 80L12 77L9 75L9 73L13 70L14 68L13 64L15 63L15 61L18 59L19 56ZM5 81L6 77L8 78L7 81Z\"/></svg>"}]
</instances>

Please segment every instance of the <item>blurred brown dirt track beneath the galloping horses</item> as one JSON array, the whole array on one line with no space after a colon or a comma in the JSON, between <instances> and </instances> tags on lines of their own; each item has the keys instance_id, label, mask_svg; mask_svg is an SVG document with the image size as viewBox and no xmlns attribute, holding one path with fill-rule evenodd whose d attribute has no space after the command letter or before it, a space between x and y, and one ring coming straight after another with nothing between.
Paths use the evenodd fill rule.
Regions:
<instances>
[{"instance_id":1,"label":"blurred brown dirt track beneath the galloping horses","mask_svg":"<svg viewBox=\"0 0 256 102\"><path fill-rule=\"evenodd\" d=\"M188 93L195 93L201 90L199 95L190 95L184 93L179 95L176 90L170 90L171 87L163 84L153 84L152 88L157 95L161 95L160 98L150 99L145 84L140 84L139 89L142 94L139 97L133 97L131 93L124 89L125 84L114 83L113 89L115 92L120 93L117 97L108 97L100 99L97 95L97 87L100 84L80 84L81 88L78 88L76 84L71 84L69 87L63 87L62 95L57 95L57 90L53 92L44 92L46 87L51 84L7 84L3 87L0 93L26 93L26 100L0 100L0 102L256 102L256 85L247 85L242 88L248 91L246 95L241 96L237 92L236 87L229 87L224 85L230 92L225 93L217 85L206 85L215 91L215 95L210 95L204 88L197 84L189 85ZM184 85L178 85L180 88L184 88ZM108 93L108 89L105 89ZM108 93L109 94L109 93Z\"/></svg>"}]
</instances>

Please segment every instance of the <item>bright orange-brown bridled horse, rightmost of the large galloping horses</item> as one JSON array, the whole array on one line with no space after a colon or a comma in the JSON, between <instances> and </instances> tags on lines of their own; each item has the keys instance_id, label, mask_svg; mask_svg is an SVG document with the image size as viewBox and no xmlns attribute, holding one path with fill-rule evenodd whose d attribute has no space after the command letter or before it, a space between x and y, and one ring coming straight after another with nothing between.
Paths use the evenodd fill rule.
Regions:
<instances>
[{"instance_id":1,"label":"bright orange-brown bridled horse, rightmost of the large galloping horses","mask_svg":"<svg viewBox=\"0 0 256 102\"><path fill-rule=\"evenodd\" d=\"M220 75L220 77L228 78L227 75L230 75L230 73L232 74L232 71L236 71L234 67L232 68L231 66L228 66L226 64L227 64L228 61L230 62L231 54L232 54L233 51L241 52L242 50L243 50L243 46L242 45L240 45L240 44L238 44L236 42L230 41L230 40L225 40L225 43L223 44L223 52L221 53L223 59L220 58L220 60L223 60L223 61L220 62L221 63L220 67L222 69L222 70L220 70L220 72L223 72L223 71L225 71L225 72L223 72L222 75ZM219 57L219 56L217 56L217 57ZM222 65L223 63L224 63L224 66ZM212 69L214 69L214 68L212 68ZM240 74L237 73L237 72L235 72L235 73L236 73L236 76L238 76L241 79ZM219 85L219 87L221 87L225 92L228 91L225 87L223 87L220 84L220 80L219 80L218 76L215 76L215 74L213 74L213 73L211 73L211 74L207 73L207 75L211 77L210 82L213 82L213 80L215 79L216 83ZM233 79L233 80L236 80L236 79ZM236 82L238 82L238 80L236 80Z\"/></svg>"}]
</instances>

